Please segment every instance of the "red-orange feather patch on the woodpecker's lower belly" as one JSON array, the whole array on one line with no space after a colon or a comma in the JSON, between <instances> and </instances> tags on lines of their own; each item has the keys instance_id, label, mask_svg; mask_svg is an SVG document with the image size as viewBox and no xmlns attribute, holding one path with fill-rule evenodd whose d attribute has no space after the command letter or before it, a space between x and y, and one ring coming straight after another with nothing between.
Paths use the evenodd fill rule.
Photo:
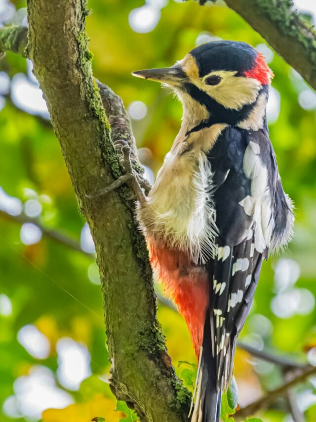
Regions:
<instances>
[{"instance_id":1,"label":"red-orange feather patch on the woodpecker's lower belly","mask_svg":"<svg viewBox=\"0 0 316 422\"><path fill-rule=\"evenodd\" d=\"M151 264L185 318L198 358L209 300L208 276L203 268L192 265L188 253L152 239L148 243Z\"/></svg>"}]
</instances>

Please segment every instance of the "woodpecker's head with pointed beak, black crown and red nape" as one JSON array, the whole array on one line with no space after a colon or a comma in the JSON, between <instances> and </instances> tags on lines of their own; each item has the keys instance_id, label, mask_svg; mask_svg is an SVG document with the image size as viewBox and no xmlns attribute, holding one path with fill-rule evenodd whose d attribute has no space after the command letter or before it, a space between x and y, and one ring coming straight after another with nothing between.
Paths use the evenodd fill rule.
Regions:
<instances>
[{"instance_id":1,"label":"woodpecker's head with pointed beak, black crown and red nape","mask_svg":"<svg viewBox=\"0 0 316 422\"><path fill-rule=\"evenodd\" d=\"M193 125L207 122L241 127L256 110L264 120L268 86L273 77L258 51L234 41L202 44L171 67L139 70L133 75L171 87ZM250 122L249 129L255 129L251 125L254 123Z\"/></svg>"}]
</instances>

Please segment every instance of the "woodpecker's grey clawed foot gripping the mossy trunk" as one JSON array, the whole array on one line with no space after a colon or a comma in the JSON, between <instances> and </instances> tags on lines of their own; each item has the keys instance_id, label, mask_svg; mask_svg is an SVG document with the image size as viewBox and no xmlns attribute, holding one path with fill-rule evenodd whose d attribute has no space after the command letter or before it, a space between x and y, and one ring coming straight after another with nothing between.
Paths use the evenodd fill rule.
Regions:
<instances>
[{"instance_id":1,"label":"woodpecker's grey clawed foot gripping the mossy trunk","mask_svg":"<svg viewBox=\"0 0 316 422\"><path fill-rule=\"evenodd\" d=\"M146 201L146 195L151 189L150 183L133 169L131 162L131 150L128 143L123 140L119 140L115 142L115 148L120 152L119 159L125 170L125 174L119 176L117 180L106 188L102 188L98 192L86 196L88 198L94 198L96 196L107 195L113 190L126 184L133 190L133 194L128 197L128 200L137 199L141 204L144 203ZM144 189L145 194L142 189Z\"/></svg>"}]
</instances>

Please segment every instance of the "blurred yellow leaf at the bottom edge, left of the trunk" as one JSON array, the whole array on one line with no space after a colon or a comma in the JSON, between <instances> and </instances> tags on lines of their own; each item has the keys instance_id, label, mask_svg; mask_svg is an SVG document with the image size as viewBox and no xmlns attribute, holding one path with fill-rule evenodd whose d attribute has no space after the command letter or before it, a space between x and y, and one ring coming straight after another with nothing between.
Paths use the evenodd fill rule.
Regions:
<instances>
[{"instance_id":1,"label":"blurred yellow leaf at the bottom edge, left of the trunk","mask_svg":"<svg viewBox=\"0 0 316 422\"><path fill-rule=\"evenodd\" d=\"M106 422L118 422L125 415L115 412L116 400L97 394L87 403L72 404L65 409L47 409L42 414L43 422L90 422L99 417Z\"/></svg>"}]
</instances>

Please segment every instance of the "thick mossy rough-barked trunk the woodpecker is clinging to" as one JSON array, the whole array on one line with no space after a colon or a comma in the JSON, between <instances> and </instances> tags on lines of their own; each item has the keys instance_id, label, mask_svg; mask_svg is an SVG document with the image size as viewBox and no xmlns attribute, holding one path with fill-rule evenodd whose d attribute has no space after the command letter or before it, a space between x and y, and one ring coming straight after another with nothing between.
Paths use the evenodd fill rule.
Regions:
<instances>
[{"instance_id":1,"label":"thick mossy rough-barked trunk the woodpecker is clinging to","mask_svg":"<svg viewBox=\"0 0 316 422\"><path fill-rule=\"evenodd\" d=\"M189 393L166 353L146 244L134 218L134 204L126 200L129 189L95 199L85 196L122 174L92 77L85 0L60 0L58 5L28 0L27 5L27 54L96 246L113 389L120 400L135 407L142 421L186 421ZM110 117L118 122L121 112L111 110ZM133 142L129 128L115 122L115 137Z\"/></svg>"}]
</instances>

